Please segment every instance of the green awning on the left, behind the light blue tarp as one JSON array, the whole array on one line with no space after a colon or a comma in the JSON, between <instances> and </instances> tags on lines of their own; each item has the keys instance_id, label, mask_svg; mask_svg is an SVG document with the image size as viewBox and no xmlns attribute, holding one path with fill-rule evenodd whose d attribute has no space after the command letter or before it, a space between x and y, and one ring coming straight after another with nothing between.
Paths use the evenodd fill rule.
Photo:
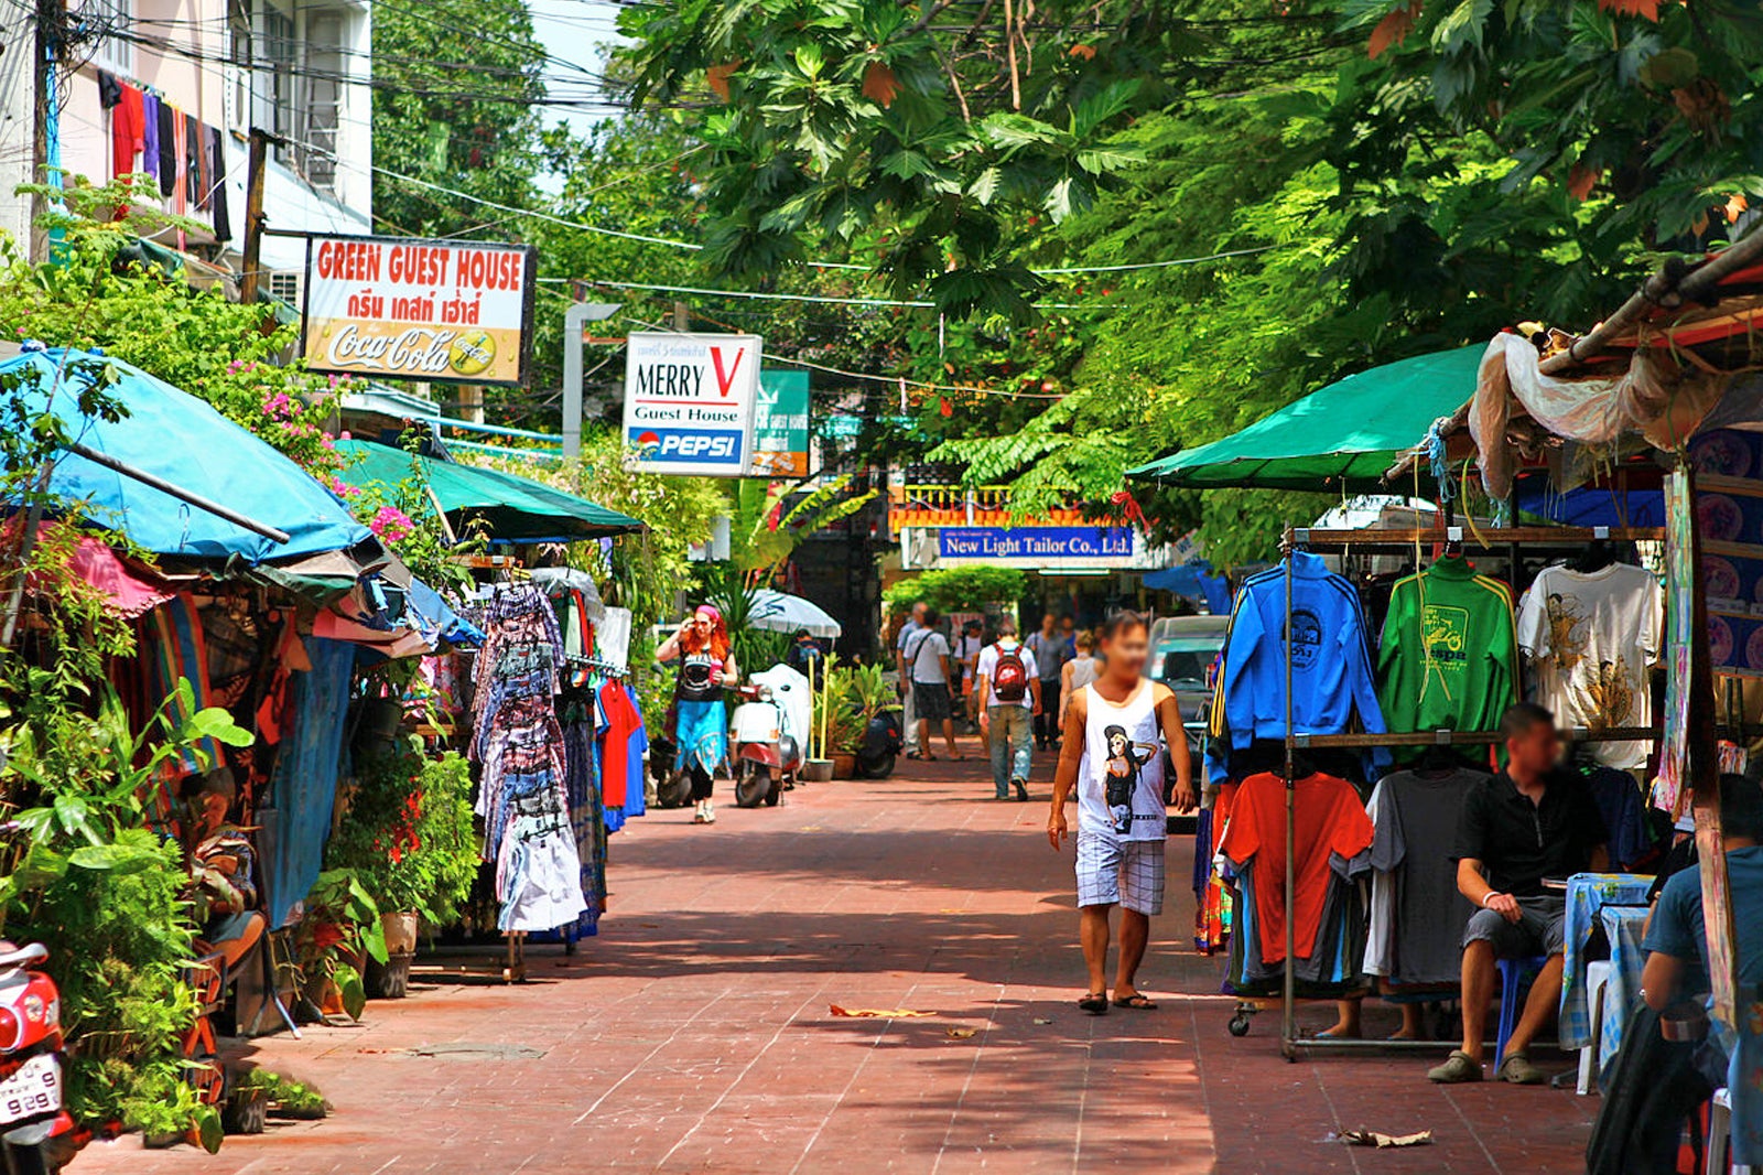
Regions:
<instances>
[{"instance_id":1,"label":"green awning on the left, behind the light blue tarp","mask_svg":"<svg viewBox=\"0 0 1763 1175\"><path fill-rule=\"evenodd\" d=\"M411 476L411 453L390 445L337 441L337 450L360 457L342 471L342 480L349 485L367 482L397 485ZM564 543L643 529L643 524L628 513L596 506L585 498L564 494L517 473L432 457L416 460L448 522L462 536L474 522L488 529L490 542L501 543Z\"/></svg>"}]
</instances>

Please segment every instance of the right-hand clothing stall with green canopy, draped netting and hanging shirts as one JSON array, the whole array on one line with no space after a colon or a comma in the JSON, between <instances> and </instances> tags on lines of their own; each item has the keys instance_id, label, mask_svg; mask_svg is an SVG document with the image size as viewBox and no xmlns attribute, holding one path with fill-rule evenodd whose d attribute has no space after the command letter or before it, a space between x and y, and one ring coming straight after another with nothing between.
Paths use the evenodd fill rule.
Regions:
<instances>
[{"instance_id":1,"label":"right-hand clothing stall with green canopy, draped netting and hanging shirts","mask_svg":"<svg viewBox=\"0 0 1763 1175\"><path fill-rule=\"evenodd\" d=\"M1701 266L1668 266L1583 339L1527 328L1449 353L1447 363L1430 356L1454 378L1430 392L1428 411L1449 408L1407 420L1407 443L1340 436L1338 422L1395 408L1356 404L1343 393L1352 381L1342 381L1283 409L1283 422L1135 471L1190 487L1384 482L1440 503L1435 526L1407 531L1291 526L1282 565L1236 602L1211 713L1213 820L1201 856L1225 861L1236 898L1227 984L1280 995L1289 1057L1372 1046L1299 1039L1298 997L1366 990L1368 977L1386 997L1405 981L1447 990L1449 944L1430 949L1421 939L1428 923L1462 919L1432 909L1407 919L1421 937L1403 942L1400 894L1454 896L1444 868L1454 796L1437 794L1460 787L1453 776L1467 759L1491 766L1499 709L1530 697L1578 745L1615 864L1629 870L1564 882L1571 933L1560 1039L1587 1050L1581 1092L1631 1046L1622 1034L1638 1004L1638 894L1675 819L1678 834L1694 829L1703 861L1710 1007L1735 1057L1722 1096L1733 1157L1758 1161L1763 1115L1745 1103L1759 1083L1740 1060L1754 1052L1756 1016L1735 979L1714 782L1745 760L1756 730L1747 686L1763 676L1763 637L1752 639L1752 602L1763 598L1754 591L1763 588L1763 381L1749 374L1763 312L1759 256L1754 236ZM1356 379L1375 388L1387 370ZM1296 429L1303 420L1310 427ZM1322 434L1324 420L1336 430ZM1393 460L1372 476L1363 459L1377 452ZM1453 517L1474 499L1486 503L1491 526ZM1562 517L1594 524L1537 524ZM1324 550L1345 575L1322 563ZM1409 566L1373 586L1358 559L1370 552L1403 552ZM1331 640L1347 655L1320 655L1336 647ZM1654 715L1659 677L1666 700ZM1361 753L1372 762L1354 764ZM1391 771L1403 757L1421 757L1421 767ZM1368 812L1343 776L1377 780ZM1361 849L1370 850L1363 873L1328 866L1331 854L1350 859ZM1416 870L1432 879L1417 884ZM1352 887L1359 875L1370 882L1365 903ZM1201 896L1204 916L1216 894ZM1588 963L1597 942L1610 958ZM1520 983L1520 970L1502 970L1507 1009ZM1239 1013L1231 1027L1248 1022Z\"/></svg>"}]
</instances>

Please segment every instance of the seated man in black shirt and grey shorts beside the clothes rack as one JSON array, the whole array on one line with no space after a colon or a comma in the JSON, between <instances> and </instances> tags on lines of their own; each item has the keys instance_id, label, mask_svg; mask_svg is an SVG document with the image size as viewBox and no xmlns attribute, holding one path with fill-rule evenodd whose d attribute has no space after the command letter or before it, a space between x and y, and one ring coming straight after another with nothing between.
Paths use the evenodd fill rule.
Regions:
<instances>
[{"instance_id":1,"label":"seated man in black shirt and grey shorts beside the clothes rack","mask_svg":"<svg viewBox=\"0 0 1763 1175\"><path fill-rule=\"evenodd\" d=\"M1525 1050L1560 1002L1567 917L1566 896L1548 893L1543 879L1608 864L1597 803L1578 778L1558 771L1553 715L1518 702L1500 718L1500 734L1506 771L1463 796L1458 817L1456 887L1481 909L1463 928L1463 1048L1426 1073L1433 1081L1481 1080L1481 1041L1499 981L1495 962L1548 956L1495 1074L1514 1085L1543 1080Z\"/></svg>"}]
</instances>

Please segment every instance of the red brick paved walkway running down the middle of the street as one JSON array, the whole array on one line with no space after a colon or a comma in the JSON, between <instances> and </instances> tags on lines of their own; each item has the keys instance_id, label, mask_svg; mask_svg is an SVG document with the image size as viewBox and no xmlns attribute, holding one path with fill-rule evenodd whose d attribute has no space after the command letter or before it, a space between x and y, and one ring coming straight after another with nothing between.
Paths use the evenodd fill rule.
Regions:
<instances>
[{"instance_id":1,"label":"red brick paved walkway running down the middle of the street","mask_svg":"<svg viewBox=\"0 0 1763 1175\"><path fill-rule=\"evenodd\" d=\"M723 810L714 829L654 813L614 840L612 914L575 958L534 947L524 986L435 977L370 1004L367 1027L259 1041L256 1060L323 1087L331 1119L217 1157L99 1143L72 1171L1583 1170L1596 1099L1442 1090L1412 1055L1287 1064L1271 1014L1229 1037L1218 962L1185 946L1185 843L1141 976L1162 1011L1079 1014L1045 785L993 803L982 773L903 764ZM1393 1027L1382 1009L1366 1022ZM1430 1127L1437 1145L1326 1141L1354 1126Z\"/></svg>"}]
</instances>

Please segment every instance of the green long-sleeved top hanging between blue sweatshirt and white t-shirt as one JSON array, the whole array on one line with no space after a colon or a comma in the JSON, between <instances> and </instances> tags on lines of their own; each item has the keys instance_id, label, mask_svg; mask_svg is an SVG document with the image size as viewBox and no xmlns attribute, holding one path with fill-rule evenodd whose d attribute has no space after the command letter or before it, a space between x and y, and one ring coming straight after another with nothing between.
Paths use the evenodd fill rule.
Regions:
<instances>
[{"instance_id":1,"label":"green long-sleeved top hanging between blue sweatshirt and white t-shirt","mask_svg":"<svg viewBox=\"0 0 1763 1175\"><path fill-rule=\"evenodd\" d=\"M1377 651L1391 730L1493 730L1518 700L1513 593L1447 556L1396 582Z\"/></svg>"}]
</instances>

